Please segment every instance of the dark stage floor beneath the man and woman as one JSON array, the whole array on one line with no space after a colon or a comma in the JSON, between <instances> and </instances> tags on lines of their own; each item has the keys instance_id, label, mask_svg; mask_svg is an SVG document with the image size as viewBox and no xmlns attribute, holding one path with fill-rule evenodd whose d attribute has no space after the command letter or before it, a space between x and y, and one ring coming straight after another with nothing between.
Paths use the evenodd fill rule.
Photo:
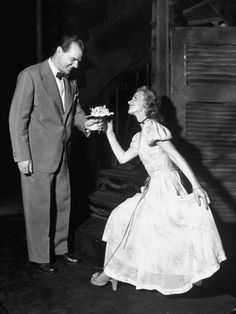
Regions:
<instances>
[{"instance_id":1,"label":"dark stage floor beneath the man and woman","mask_svg":"<svg viewBox=\"0 0 236 314\"><path fill-rule=\"evenodd\" d=\"M10 202L1 205L1 314L236 313L235 226L220 230L228 260L202 287L193 287L182 295L164 296L121 283L113 292L110 284L104 287L90 284L91 275L102 265L104 221L90 216L77 226L75 253L83 257L81 264L69 266L58 262L58 273L49 276L38 273L27 262L21 206L14 202L12 206Z\"/></svg>"}]
</instances>

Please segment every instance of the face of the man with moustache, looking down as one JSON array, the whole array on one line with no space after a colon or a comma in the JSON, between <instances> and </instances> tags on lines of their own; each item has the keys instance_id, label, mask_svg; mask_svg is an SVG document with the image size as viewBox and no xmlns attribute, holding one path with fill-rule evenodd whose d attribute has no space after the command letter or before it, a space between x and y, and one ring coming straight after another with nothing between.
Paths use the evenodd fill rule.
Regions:
<instances>
[{"instance_id":1,"label":"face of the man with moustache, looking down","mask_svg":"<svg viewBox=\"0 0 236 314\"><path fill-rule=\"evenodd\" d=\"M76 43L72 43L69 50L66 52L64 52L61 47L58 49L60 71L69 74L73 68L78 68L83 52Z\"/></svg>"}]
</instances>

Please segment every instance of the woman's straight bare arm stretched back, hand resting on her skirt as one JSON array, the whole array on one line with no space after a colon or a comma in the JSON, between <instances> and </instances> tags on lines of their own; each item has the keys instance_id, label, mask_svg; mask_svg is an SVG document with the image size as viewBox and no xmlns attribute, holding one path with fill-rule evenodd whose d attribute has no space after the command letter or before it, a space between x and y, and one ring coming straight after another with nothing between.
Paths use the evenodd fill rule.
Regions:
<instances>
[{"instance_id":1,"label":"woman's straight bare arm stretched back, hand resting on her skirt","mask_svg":"<svg viewBox=\"0 0 236 314\"><path fill-rule=\"evenodd\" d=\"M209 198L206 191L201 187L197 177L193 173L191 167L184 159L184 157L176 150L170 141L159 142L159 146L168 154L170 159L182 171L185 177L192 185L192 190L198 205L201 205L201 200L206 208L208 208Z\"/></svg>"}]
</instances>

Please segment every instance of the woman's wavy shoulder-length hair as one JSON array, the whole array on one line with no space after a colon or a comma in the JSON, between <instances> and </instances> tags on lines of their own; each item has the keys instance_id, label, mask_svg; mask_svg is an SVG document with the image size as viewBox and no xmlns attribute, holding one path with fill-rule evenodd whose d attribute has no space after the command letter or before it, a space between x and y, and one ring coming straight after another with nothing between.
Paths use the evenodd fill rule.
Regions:
<instances>
[{"instance_id":1,"label":"woman's wavy shoulder-length hair","mask_svg":"<svg viewBox=\"0 0 236 314\"><path fill-rule=\"evenodd\" d=\"M144 99L146 101L144 107L147 118L163 122L163 116L160 113L160 99L157 97L155 91L147 85L139 87L137 89L137 92L138 91L142 91L144 94Z\"/></svg>"}]
</instances>

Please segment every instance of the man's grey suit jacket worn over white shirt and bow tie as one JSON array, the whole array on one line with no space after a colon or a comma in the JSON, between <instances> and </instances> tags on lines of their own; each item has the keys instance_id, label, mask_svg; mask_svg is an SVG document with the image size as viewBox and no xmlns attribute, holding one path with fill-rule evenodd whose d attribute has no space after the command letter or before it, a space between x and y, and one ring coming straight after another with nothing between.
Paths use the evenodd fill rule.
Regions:
<instances>
[{"instance_id":1,"label":"man's grey suit jacket worn over white shirt and bow tie","mask_svg":"<svg viewBox=\"0 0 236 314\"><path fill-rule=\"evenodd\" d=\"M19 74L9 113L15 162L32 160L34 171L55 172L73 125L85 133L86 117L77 100L75 81L66 79L65 84L64 112L48 60Z\"/></svg>"}]
</instances>

